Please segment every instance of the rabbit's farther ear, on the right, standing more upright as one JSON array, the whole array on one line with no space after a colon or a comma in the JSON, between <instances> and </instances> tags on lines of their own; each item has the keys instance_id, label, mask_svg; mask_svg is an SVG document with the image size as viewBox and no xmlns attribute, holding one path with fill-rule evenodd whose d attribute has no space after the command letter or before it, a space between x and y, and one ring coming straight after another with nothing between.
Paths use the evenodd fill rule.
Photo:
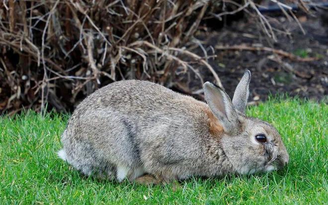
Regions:
<instances>
[{"instance_id":1,"label":"rabbit's farther ear, on the right, standing more upright","mask_svg":"<svg viewBox=\"0 0 328 205\"><path fill-rule=\"evenodd\" d=\"M236 110L245 114L246 104L249 95L250 71L246 70L243 78L238 83L233 97L233 105Z\"/></svg>"}]
</instances>

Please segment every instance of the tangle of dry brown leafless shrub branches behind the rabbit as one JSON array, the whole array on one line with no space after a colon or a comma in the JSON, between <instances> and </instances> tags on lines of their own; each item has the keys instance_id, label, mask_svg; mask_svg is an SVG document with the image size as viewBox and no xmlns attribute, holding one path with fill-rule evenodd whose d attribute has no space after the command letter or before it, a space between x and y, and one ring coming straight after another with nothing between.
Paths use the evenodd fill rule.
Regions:
<instances>
[{"instance_id":1,"label":"tangle of dry brown leafless shrub branches behind the rabbit","mask_svg":"<svg viewBox=\"0 0 328 205\"><path fill-rule=\"evenodd\" d=\"M304 31L293 7L271 1ZM214 43L205 48L194 36L201 31L208 35L229 19L244 17L251 18L264 36L276 42L277 34L285 31L271 26L277 20L261 13L260 2L3 0L0 3L0 112L13 114L22 108L43 111L46 103L49 109L69 111L95 89L121 79L151 80L170 88L178 87L182 92L188 92L188 87L195 84L200 89L204 77L222 85L218 69L214 70L209 63L216 57ZM305 12L310 11L302 0L287 3L290 2ZM194 48L202 52L197 53ZM316 59L278 50L269 52L293 60ZM195 76L194 80L190 75ZM181 85L181 81L187 84ZM199 91L194 95L202 98Z\"/></svg>"}]
</instances>

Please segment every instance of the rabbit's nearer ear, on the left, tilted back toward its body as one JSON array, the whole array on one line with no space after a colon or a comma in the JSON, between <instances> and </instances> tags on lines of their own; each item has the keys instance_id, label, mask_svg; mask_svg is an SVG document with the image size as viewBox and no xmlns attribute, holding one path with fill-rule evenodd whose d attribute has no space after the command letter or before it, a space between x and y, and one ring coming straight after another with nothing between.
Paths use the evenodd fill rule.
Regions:
<instances>
[{"instance_id":1,"label":"rabbit's nearer ear, on the left, tilted back toward its body","mask_svg":"<svg viewBox=\"0 0 328 205\"><path fill-rule=\"evenodd\" d=\"M237 127L237 113L230 97L220 87L210 83L204 83L205 100L214 116L221 122L225 132L234 132Z\"/></svg>"}]
</instances>

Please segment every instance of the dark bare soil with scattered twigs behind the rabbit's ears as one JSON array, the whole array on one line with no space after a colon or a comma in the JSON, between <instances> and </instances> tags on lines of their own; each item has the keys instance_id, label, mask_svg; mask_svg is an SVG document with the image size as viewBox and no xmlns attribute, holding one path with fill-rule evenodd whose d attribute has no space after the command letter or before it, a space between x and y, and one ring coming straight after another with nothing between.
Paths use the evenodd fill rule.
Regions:
<instances>
[{"instance_id":1,"label":"dark bare soil with scattered twigs behind the rabbit's ears","mask_svg":"<svg viewBox=\"0 0 328 205\"><path fill-rule=\"evenodd\" d=\"M287 93L289 96L321 100L328 92L328 16L325 12L328 11L318 11L312 16L298 14L305 34L296 21L289 21L278 13L275 19L279 22L271 21L274 28L284 31L275 31L277 42L268 38L259 24L249 18L231 22L221 29L200 32L197 39L203 44L208 56L212 55L211 47L214 48L217 57L209 60L209 63L231 96L247 68L252 73L251 103L267 99L269 93ZM272 16L276 17L277 14ZM302 62L270 51L232 50L229 48L232 46L268 47L316 60ZM216 49L218 47L228 48ZM202 49L195 48L194 51L204 56ZM213 81L207 68L199 68L199 72L204 80ZM189 87L189 93L196 94L200 89L199 79L191 81Z\"/></svg>"}]
</instances>

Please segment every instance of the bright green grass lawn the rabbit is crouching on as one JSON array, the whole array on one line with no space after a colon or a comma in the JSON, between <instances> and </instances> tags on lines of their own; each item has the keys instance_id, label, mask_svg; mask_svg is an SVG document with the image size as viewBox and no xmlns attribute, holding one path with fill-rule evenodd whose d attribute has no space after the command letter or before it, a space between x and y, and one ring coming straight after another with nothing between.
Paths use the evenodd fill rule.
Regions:
<instances>
[{"instance_id":1,"label":"bright green grass lawn the rabbit is crouching on","mask_svg":"<svg viewBox=\"0 0 328 205\"><path fill-rule=\"evenodd\" d=\"M248 115L272 123L290 155L286 169L190 179L147 187L82 177L56 151L67 115L0 117L0 205L4 204L328 204L328 106L271 99Z\"/></svg>"}]
</instances>

